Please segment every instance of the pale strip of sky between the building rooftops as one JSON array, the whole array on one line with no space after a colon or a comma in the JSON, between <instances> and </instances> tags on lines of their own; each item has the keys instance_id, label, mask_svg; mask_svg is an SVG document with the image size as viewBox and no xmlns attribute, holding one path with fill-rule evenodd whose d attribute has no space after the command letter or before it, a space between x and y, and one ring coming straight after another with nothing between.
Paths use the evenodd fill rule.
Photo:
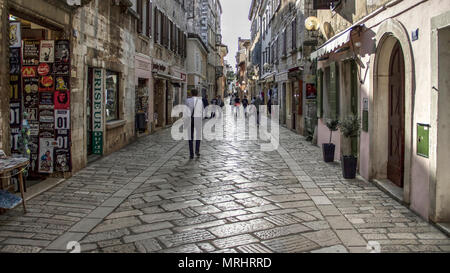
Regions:
<instances>
[{"instance_id":1,"label":"pale strip of sky between the building rooftops","mask_svg":"<svg viewBox=\"0 0 450 273\"><path fill-rule=\"evenodd\" d=\"M236 67L236 52L238 50L238 39L250 39L250 11L251 0L221 0L222 14L222 36L223 43L228 46L228 63Z\"/></svg>"}]
</instances>

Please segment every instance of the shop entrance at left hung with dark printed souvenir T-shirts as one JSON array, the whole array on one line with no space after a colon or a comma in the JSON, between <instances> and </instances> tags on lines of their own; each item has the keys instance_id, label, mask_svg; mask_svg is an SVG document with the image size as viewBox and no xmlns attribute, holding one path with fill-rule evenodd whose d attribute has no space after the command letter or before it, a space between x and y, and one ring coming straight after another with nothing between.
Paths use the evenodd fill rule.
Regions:
<instances>
[{"instance_id":1,"label":"shop entrance at left hung with dark printed souvenir T-shirts","mask_svg":"<svg viewBox=\"0 0 450 273\"><path fill-rule=\"evenodd\" d=\"M71 47L63 29L11 12L11 154L30 158L30 185L72 171Z\"/></svg>"}]
</instances>

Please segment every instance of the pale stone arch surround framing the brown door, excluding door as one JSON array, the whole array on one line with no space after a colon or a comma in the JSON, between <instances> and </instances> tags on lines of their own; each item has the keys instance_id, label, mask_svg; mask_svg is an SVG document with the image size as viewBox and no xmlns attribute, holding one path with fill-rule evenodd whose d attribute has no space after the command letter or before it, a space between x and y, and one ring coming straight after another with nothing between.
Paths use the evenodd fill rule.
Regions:
<instances>
[{"instance_id":1,"label":"pale stone arch surround framing the brown door, excluding door","mask_svg":"<svg viewBox=\"0 0 450 273\"><path fill-rule=\"evenodd\" d=\"M371 96L370 122L370 178L387 178L388 154L388 108L389 108L389 65L392 50L398 42L403 51L405 63L405 154L403 201L410 203L411 161L413 151L414 117L414 59L408 32L395 19L384 21L376 34L376 53L371 58L373 85Z\"/></svg>"}]
</instances>

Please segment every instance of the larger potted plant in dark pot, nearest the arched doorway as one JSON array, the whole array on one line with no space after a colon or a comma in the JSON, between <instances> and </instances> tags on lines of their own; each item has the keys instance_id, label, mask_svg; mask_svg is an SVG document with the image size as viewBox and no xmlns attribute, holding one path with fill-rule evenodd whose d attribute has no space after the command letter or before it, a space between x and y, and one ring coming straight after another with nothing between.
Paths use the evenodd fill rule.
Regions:
<instances>
[{"instance_id":1,"label":"larger potted plant in dark pot, nearest the arched doorway","mask_svg":"<svg viewBox=\"0 0 450 273\"><path fill-rule=\"evenodd\" d=\"M355 115L350 115L339 122L339 129L345 138L350 140L356 138L361 132L361 119ZM345 179L355 179L357 166L357 154L344 152L342 156L342 173Z\"/></svg>"}]
</instances>

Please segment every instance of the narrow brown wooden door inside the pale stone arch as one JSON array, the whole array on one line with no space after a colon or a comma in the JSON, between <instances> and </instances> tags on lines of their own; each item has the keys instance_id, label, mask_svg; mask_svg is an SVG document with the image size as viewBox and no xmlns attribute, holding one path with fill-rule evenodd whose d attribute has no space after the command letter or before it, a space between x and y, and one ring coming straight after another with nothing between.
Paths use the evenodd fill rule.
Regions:
<instances>
[{"instance_id":1,"label":"narrow brown wooden door inside the pale stone arch","mask_svg":"<svg viewBox=\"0 0 450 273\"><path fill-rule=\"evenodd\" d=\"M403 187L405 156L405 64L400 44L394 46L389 75L388 179Z\"/></svg>"}]
</instances>

